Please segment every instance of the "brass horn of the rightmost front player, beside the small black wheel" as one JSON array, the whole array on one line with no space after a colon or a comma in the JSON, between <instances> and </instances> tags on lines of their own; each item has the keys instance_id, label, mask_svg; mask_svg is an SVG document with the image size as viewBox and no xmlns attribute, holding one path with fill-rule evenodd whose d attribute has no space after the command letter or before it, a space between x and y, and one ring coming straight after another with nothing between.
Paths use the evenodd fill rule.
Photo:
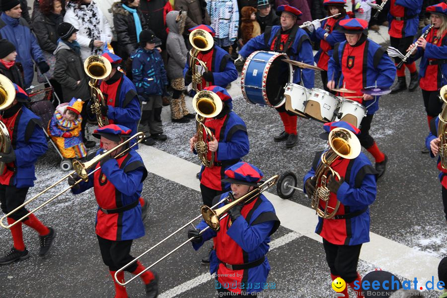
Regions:
<instances>
[{"instance_id":1,"label":"brass horn of the rightmost front player, beside the small black wheel","mask_svg":"<svg viewBox=\"0 0 447 298\"><path fill-rule=\"evenodd\" d=\"M354 159L361 151L359 139L350 130L341 127L334 128L329 133L328 140L330 148L321 155L321 162L315 171L316 184L311 203L316 214L323 219L333 218L340 207L338 200L335 207L329 207L330 190L326 187L329 174L340 180L340 175L331 168L331 164L340 157ZM325 203L324 210L319 208L320 200Z\"/></svg>"}]
</instances>

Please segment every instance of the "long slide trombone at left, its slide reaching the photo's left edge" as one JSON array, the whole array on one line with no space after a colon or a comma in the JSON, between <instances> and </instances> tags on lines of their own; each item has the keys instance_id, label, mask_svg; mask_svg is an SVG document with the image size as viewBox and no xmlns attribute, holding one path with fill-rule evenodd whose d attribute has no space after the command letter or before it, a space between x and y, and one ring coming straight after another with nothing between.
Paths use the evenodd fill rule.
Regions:
<instances>
[{"instance_id":1,"label":"long slide trombone at left, its slide reaching the photo's left edge","mask_svg":"<svg viewBox=\"0 0 447 298\"><path fill-rule=\"evenodd\" d=\"M38 211L39 209L41 209L42 207L44 207L45 205L47 205L48 203L50 203L51 201L53 201L54 199L56 199L57 197L59 197L60 195L66 193L67 191L69 191L70 189L72 189L75 185L77 185L78 183L80 183L81 181L88 181L88 176L93 174L94 172L96 172L97 170L99 170L101 167L97 167L96 169L94 169L93 171L91 171L90 173L88 173L88 170L93 167L94 165L96 165L101 159L103 159L105 156L109 155L110 152L115 151L116 149L119 149L121 147L123 147L124 145L127 145L132 139L134 138L138 138L137 142L135 144L133 144L132 146L130 146L129 148L125 149L124 151L120 152L118 155L116 155L114 158L120 157L121 155L127 153L127 151L129 151L130 149L132 149L132 147L136 146L138 143L140 143L143 140L144 137L144 133L140 132L137 133L135 135L133 135L132 137L130 137L128 140L124 141L123 143L115 146L113 149L104 151L102 154L95 156L93 159L86 161L86 162L80 162L77 159L73 160L73 169L74 171L72 171L71 173L67 174L66 176L64 176L63 178L59 179L56 183L54 183L53 185L50 185L49 187L45 188L43 191L41 191L40 193L38 193L37 195L35 195L34 197L32 197L31 199L29 199L28 201L24 202L22 205L20 205L19 207L15 208L14 210L12 210L11 212L9 212L8 214L4 215L1 219L0 219L0 225L4 228L11 228L12 226L14 226L17 223L21 223L25 218L27 218L28 216L30 216L31 214L33 214L34 212ZM17 212L19 209L25 207L28 203L34 201L35 199L37 199L38 197L40 197L42 194L44 194L45 192L47 192L49 189L55 187L56 185L60 184L61 182L63 182L65 179L71 177L73 174L77 174L80 179L77 180L74 185L64 189L63 191L61 191L60 193L54 195L53 197L51 197L50 199L48 199L47 201L43 202L41 205L39 205L38 207L34 208L33 210L31 210L30 212L28 212L25 216L21 217L19 220L15 221L12 224L8 224L5 225L3 224L3 221L7 218L10 217L12 214L14 214L15 212Z\"/></svg>"}]
</instances>

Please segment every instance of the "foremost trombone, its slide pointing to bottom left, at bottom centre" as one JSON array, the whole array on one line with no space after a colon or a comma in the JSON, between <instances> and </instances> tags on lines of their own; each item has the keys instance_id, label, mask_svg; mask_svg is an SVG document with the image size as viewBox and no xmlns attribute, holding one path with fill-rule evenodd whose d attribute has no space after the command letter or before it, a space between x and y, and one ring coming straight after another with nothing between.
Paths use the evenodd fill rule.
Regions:
<instances>
[{"instance_id":1,"label":"foremost trombone, its slide pointing to bottom left, at bottom centre","mask_svg":"<svg viewBox=\"0 0 447 298\"><path fill-rule=\"evenodd\" d=\"M230 210L231 208L233 208L234 206L238 205L239 203L248 203L250 201L252 201L253 199L255 199L257 196L259 196L262 192L264 192L265 190L269 189L270 187L272 187L273 185L275 185L275 183L278 181L279 176L275 175L273 177L271 177L270 179L268 179L267 181L265 181L264 183L262 183L261 185L259 185L257 188L253 189L252 191L250 191L249 193L243 195L242 197L240 197L237 200L234 200L234 197L232 195L232 193L229 193L228 196L224 197L222 200L220 200L216 205L213 205L212 207L208 207L206 205L202 206L201 208L201 215L197 216L196 218L194 218L193 220L189 221L188 223L182 225L181 227L179 227L178 229L176 229L173 233L171 233L170 235L168 235L167 237L165 237L163 240L161 240L160 242L158 242L157 244L155 244L154 246L150 247L147 251L145 251L144 253L142 253L141 255L139 255L138 257L136 257L135 259L133 259L132 261L130 261L129 263L127 263L126 265L124 265L123 267L121 267L120 269L118 269L115 272L114 278L115 281L121 285L121 286L126 286L128 283L130 283L131 281L133 281L134 279L136 279L137 277L139 277L140 275L142 275L143 273L145 273L146 271L148 271L150 268L152 268L153 266L155 266L156 264L158 264L159 262L161 262L162 260L164 260L165 258L167 258L169 255L171 255L172 253L174 253L176 250L178 250L180 247L184 246L185 244L187 244L188 242L190 242L192 239L194 239L195 237L191 237L188 240L186 240L185 242L183 242L182 244L180 244L179 246L177 246L176 248L174 248L173 250L171 250L170 252L168 252L167 254L165 254L163 257L161 257L160 259L158 259L156 262L152 263L150 266L146 267L145 270L143 270L142 272L140 272L139 274L135 275L134 277L132 277L130 280L128 280L127 282L122 283L118 277L117 274L120 273L121 271L124 271L129 265L137 262L142 256L144 256L145 254L147 254L149 251L151 251L152 249L154 249L155 247L157 247L159 244L161 244L162 242L166 241L167 239L169 239L170 237L172 237L174 234L178 233L180 230L182 230L183 228L185 228L186 226L188 226L189 224L192 224L195 220L199 219L201 216L203 217L204 221L208 224L207 227L205 227L203 230L200 231L199 235L202 235L203 232L205 232L207 229L212 228L215 231L218 231L220 229L220 223L219 221L221 221L222 219L224 219L227 215L228 215L228 210ZM214 210L213 208L215 208L216 206L218 206L219 204L223 203L224 201L229 201L229 204L224 205L223 207Z\"/></svg>"}]
</instances>

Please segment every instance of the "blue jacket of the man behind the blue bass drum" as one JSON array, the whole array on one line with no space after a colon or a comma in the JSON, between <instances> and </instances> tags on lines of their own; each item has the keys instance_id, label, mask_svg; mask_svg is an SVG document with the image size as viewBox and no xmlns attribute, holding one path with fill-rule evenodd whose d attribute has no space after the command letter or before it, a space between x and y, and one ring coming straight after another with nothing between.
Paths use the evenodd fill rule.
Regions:
<instances>
[{"instance_id":1,"label":"blue jacket of the man behind the blue bass drum","mask_svg":"<svg viewBox=\"0 0 447 298\"><path fill-rule=\"evenodd\" d=\"M239 51L239 54L247 58L254 51L270 51L272 46L273 39L278 34L278 31L281 30L281 26L272 26L270 36L268 34L269 27L266 28L265 32L261 35L258 35L252 39L250 39ZM293 30L293 29L292 29ZM266 34L267 32L267 34ZM304 62L310 65L314 65L312 46L310 44L310 39L307 33L299 28L297 34L295 35L294 42L291 46L291 50L286 53L289 54L289 58L291 60L296 60L300 62ZM302 75L301 75L302 72ZM313 88L314 86L314 76L315 71L310 69L300 69L296 68L294 72L293 82L298 84L301 79L304 83L304 87Z\"/></svg>"}]
</instances>

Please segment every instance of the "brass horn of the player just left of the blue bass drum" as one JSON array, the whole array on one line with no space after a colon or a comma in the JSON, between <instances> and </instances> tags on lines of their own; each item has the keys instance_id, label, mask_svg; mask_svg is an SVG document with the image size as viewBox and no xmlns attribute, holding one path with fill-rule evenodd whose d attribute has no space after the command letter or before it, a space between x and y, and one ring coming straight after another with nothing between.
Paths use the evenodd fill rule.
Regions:
<instances>
[{"instance_id":1,"label":"brass horn of the player just left of the blue bass drum","mask_svg":"<svg viewBox=\"0 0 447 298\"><path fill-rule=\"evenodd\" d=\"M189 34L189 42L192 45L192 49L189 51L189 68L192 73L192 88L196 92L199 92L203 89L202 85L202 72L200 72L200 68L203 70L207 70L207 65L202 60L198 59L197 56L200 52L210 50L214 45L213 36L203 29L196 29ZM196 65L198 63L199 65ZM200 68L199 68L200 66ZM206 86L208 87L209 83L207 82Z\"/></svg>"}]
</instances>

